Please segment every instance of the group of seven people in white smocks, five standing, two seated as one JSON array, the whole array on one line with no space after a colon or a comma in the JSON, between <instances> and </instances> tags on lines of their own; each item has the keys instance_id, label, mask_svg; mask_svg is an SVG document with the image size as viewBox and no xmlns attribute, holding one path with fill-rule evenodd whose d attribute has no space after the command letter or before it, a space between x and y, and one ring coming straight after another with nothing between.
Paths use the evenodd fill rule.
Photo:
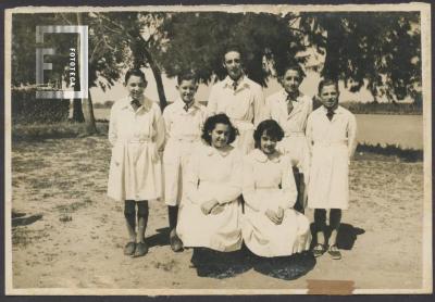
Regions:
<instances>
[{"instance_id":1,"label":"group of seven people in white smocks, five standing, two seated","mask_svg":"<svg viewBox=\"0 0 435 302\"><path fill-rule=\"evenodd\" d=\"M145 74L126 73L128 96L110 116L108 185L109 197L125 204L125 254L148 252L148 201L164 200L175 252L225 253L243 243L262 257L308 251L308 206L314 209L314 256L341 257L337 232L348 207L356 119L338 105L337 81L321 80L323 105L313 111L312 98L299 90L298 64L283 70L283 89L265 99L241 60L235 48L223 53L227 76L212 87L207 108L195 100L195 74L178 75L179 98L163 114L144 95Z\"/></svg>"}]
</instances>

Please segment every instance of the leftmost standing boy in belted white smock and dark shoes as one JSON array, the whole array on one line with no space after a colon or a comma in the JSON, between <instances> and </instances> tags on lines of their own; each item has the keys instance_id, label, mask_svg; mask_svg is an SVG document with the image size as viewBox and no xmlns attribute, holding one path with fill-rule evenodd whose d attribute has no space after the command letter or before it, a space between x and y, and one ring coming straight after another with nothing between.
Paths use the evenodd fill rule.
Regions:
<instances>
[{"instance_id":1,"label":"leftmost standing boy in belted white smock and dark shoes","mask_svg":"<svg viewBox=\"0 0 435 302\"><path fill-rule=\"evenodd\" d=\"M140 70L126 73L125 86L128 97L116 101L110 114L109 141L112 144L112 159L108 196L124 201L129 235L124 253L141 256L148 251L145 242L148 200L162 196L159 149L164 142L164 123L159 105L144 96L147 80Z\"/></svg>"}]
</instances>

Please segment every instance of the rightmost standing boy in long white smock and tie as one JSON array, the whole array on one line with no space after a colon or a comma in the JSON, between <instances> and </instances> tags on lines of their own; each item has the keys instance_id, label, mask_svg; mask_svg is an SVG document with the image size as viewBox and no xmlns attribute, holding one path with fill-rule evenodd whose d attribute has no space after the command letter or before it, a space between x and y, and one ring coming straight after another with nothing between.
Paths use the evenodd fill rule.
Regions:
<instances>
[{"instance_id":1,"label":"rightmost standing boy in long white smock and tie","mask_svg":"<svg viewBox=\"0 0 435 302\"><path fill-rule=\"evenodd\" d=\"M349 162L356 149L355 115L338 105L338 83L324 79L319 84L323 105L310 114L307 138L311 153L308 207L314 209L316 246L314 256L326 251L326 210L330 212L328 254L341 259L337 234L341 210L349 206Z\"/></svg>"}]
</instances>

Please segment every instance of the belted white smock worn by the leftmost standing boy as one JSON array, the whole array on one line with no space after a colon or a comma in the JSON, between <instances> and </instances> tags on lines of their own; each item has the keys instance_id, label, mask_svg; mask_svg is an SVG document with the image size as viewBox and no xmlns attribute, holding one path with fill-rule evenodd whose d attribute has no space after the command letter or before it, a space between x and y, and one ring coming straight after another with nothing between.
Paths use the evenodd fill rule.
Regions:
<instances>
[{"instance_id":1,"label":"belted white smock worn by the leftmost standing boy","mask_svg":"<svg viewBox=\"0 0 435 302\"><path fill-rule=\"evenodd\" d=\"M159 148L164 142L160 108L142 98L135 112L130 98L115 102L109 124L112 144L108 196L114 200L151 200L162 196Z\"/></svg>"}]
</instances>

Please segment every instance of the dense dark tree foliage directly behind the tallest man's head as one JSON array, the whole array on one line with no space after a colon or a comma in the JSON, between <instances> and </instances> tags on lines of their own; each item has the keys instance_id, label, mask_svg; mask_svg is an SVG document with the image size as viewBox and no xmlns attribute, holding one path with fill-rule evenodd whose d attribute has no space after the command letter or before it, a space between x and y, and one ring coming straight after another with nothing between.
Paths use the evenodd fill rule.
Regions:
<instances>
[{"instance_id":1,"label":"dense dark tree foliage directly behind the tallest man's head","mask_svg":"<svg viewBox=\"0 0 435 302\"><path fill-rule=\"evenodd\" d=\"M269 13L173 14L161 27L164 42L159 60L170 77L194 71L201 81L209 83L214 74L225 76L223 53L236 46L244 54L246 74L265 85L271 75L269 64L279 68L302 50L289 28L294 17Z\"/></svg>"}]
</instances>

